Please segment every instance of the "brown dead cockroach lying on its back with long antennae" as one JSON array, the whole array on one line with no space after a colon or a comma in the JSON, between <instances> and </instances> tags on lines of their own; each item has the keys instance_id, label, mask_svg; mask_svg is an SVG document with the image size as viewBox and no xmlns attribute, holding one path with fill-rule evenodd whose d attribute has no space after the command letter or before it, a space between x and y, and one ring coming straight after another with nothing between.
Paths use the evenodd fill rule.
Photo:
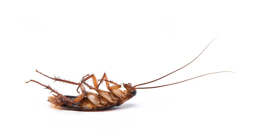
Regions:
<instances>
[{"instance_id":1,"label":"brown dead cockroach lying on its back with long antennae","mask_svg":"<svg viewBox=\"0 0 256 136\"><path fill-rule=\"evenodd\" d=\"M216 38L214 38L214 39L216 39ZM211 42L213 42L213 40ZM211 42L207 45L207 47L211 44ZM204 50L207 47L205 47ZM204 52L204 50L195 59L197 59ZM193 59L191 62L193 62L195 59ZM122 91L120 89L121 85L119 85L116 82L113 82L111 80L108 80L106 73L104 73L103 77L99 80L96 79L94 74L88 74L88 75L83 76L81 82L72 82L70 80L64 80L64 79L61 79L56 76L54 76L54 78L52 78L52 77L46 76L45 74L36 70L36 72L42 74L43 76L46 76L47 78L51 78L54 81L60 81L60 82L77 85L78 87L77 87L76 91L78 93L79 93L79 89L81 89L81 93L79 93L79 96L62 95L57 90L52 89L52 87L50 87L49 85L44 85L36 80L29 80L29 81L25 81L25 82L26 83L28 83L30 81L36 82L39 85L42 85L43 87L45 87L45 89L49 89L49 90L51 90L51 92L55 93L56 95L53 94L53 96L48 97L48 101L56 106L67 107L72 110L78 110L78 111L92 111L92 110L100 110L100 109L104 109L104 108L119 106L119 105L123 104L124 102L126 102L127 100L129 100L130 98L132 98L133 96L135 96L137 93L137 89L150 89L150 88L164 87L164 86L174 85L174 84L177 84L180 82L184 82L187 80L191 80L191 79L200 77L200 76L196 76L194 78L190 78L190 79L183 80L180 82L171 83L168 85L161 85L161 86L155 86L155 87L138 87L140 85L146 85L151 82L155 82L159 79L162 79L162 78L186 67L191 62L189 62L185 66L183 66L165 76L162 76L161 78L158 78L158 79L150 81L150 82L145 82L145 83L135 85L135 86L132 86L132 84L130 84L130 83L128 83L128 84L123 83L123 86L126 89L125 91ZM220 72L214 72L214 73L209 73L209 74L216 74L216 73L221 73L221 72L231 72L231 71L220 71ZM204 74L201 76L205 76L205 75L209 75L209 74ZM89 80L89 79L92 79L93 86L88 84L87 80ZM107 87L108 91L99 89L99 85L103 81L106 83L106 87ZM112 85L110 86L110 84L112 84ZM85 86L87 86L91 90L95 90L97 93L86 91Z\"/></svg>"}]
</instances>

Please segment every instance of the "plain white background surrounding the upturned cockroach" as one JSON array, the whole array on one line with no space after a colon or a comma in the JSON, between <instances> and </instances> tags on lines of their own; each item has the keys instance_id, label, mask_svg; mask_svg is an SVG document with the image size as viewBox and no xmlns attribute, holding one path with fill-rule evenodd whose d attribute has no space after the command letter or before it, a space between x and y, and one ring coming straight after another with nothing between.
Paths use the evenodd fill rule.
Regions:
<instances>
[{"instance_id":1,"label":"plain white background surrounding the upturned cockroach","mask_svg":"<svg viewBox=\"0 0 256 136\"><path fill-rule=\"evenodd\" d=\"M34 0L0 2L1 135L255 136L255 4L249 0ZM38 74L117 83L154 80L119 107L70 111L47 102ZM104 85L102 85L103 87ZM122 88L124 89L124 88Z\"/></svg>"}]
</instances>

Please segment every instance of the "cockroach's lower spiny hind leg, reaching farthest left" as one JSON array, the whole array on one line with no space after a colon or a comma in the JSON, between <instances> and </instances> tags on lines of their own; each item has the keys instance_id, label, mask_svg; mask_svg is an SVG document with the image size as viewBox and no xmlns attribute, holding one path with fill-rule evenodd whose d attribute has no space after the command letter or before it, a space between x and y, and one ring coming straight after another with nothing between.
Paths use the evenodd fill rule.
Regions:
<instances>
[{"instance_id":1,"label":"cockroach's lower spiny hind leg, reaching farthest left","mask_svg":"<svg viewBox=\"0 0 256 136\"><path fill-rule=\"evenodd\" d=\"M81 88L82 90L82 94L80 94L79 96L77 96L74 100L70 100L69 98L67 98L66 96L63 96L62 94L58 93L58 91L52 89L52 87L50 87L49 85L43 85L42 83L36 81L36 80L29 80L28 82L36 82L38 83L39 85L42 85L43 87L45 87L46 89L49 89L51 90L52 92L54 92L55 94L57 94L58 96L61 96L61 98L64 98L65 100L67 100L68 102L70 103L78 103L80 102L81 100L83 100L83 98L85 97L85 94L86 94L86 91L85 91L85 87L83 85L79 85L79 87ZM28 83L27 81L25 81L26 83Z\"/></svg>"}]
</instances>

